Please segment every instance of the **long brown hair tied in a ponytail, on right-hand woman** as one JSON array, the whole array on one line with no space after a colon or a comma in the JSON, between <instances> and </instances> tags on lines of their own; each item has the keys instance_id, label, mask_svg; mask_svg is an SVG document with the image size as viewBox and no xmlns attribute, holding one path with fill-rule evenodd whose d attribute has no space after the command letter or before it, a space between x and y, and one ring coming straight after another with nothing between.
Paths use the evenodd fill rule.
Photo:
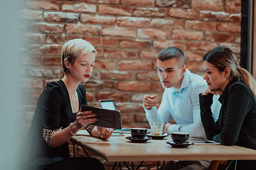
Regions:
<instances>
[{"instance_id":1,"label":"long brown hair tied in a ponytail, on right-hand woman","mask_svg":"<svg viewBox=\"0 0 256 170\"><path fill-rule=\"evenodd\" d=\"M219 72L223 72L226 67L230 69L230 77L240 77L242 82L252 89L253 94L256 97L256 82L250 72L246 69L239 67L238 59L232 50L225 46L219 46L213 48L203 56L203 61L207 61L213 64Z\"/></svg>"}]
</instances>

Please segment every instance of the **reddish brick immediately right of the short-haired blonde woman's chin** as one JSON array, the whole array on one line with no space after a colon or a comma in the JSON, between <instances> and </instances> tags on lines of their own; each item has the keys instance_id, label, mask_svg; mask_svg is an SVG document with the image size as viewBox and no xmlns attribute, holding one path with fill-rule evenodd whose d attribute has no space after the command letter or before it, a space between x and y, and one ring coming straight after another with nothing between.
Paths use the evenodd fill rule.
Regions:
<instances>
[{"instance_id":1,"label":"reddish brick immediately right of the short-haired blonde woman's chin","mask_svg":"<svg viewBox=\"0 0 256 170\"><path fill-rule=\"evenodd\" d=\"M85 89L87 91L100 91L100 90L109 90L114 89L114 81L101 81L101 80L92 80L89 79L85 84Z\"/></svg>"}]
</instances>

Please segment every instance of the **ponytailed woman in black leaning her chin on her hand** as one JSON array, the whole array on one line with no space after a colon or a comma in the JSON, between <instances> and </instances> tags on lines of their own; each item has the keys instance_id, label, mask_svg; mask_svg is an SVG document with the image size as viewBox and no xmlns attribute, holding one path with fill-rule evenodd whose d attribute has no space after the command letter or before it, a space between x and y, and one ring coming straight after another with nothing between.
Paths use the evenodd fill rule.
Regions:
<instances>
[{"instance_id":1,"label":"ponytailed woman in black leaning her chin on her hand","mask_svg":"<svg viewBox=\"0 0 256 170\"><path fill-rule=\"evenodd\" d=\"M199 95L201 119L208 140L222 145L256 149L255 80L238 65L233 52L215 47L203 57L203 70L208 88ZM222 104L218 120L213 120L210 106L213 95ZM228 169L255 169L256 161L230 161Z\"/></svg>"}]
</instances>

